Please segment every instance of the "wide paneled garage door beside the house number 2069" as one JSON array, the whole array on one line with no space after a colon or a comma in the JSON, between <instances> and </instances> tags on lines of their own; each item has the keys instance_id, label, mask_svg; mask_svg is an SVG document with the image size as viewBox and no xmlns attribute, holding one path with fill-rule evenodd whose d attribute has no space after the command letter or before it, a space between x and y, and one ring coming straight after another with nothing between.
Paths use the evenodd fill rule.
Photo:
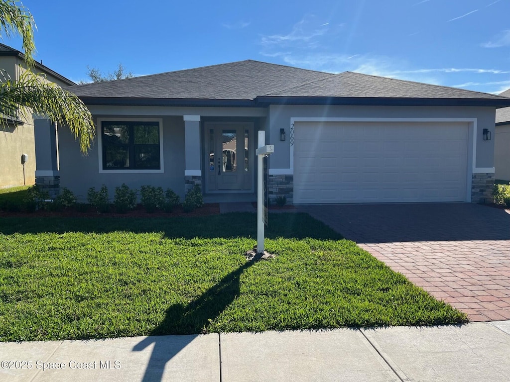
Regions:
<instances>
[{"instance_id":1,"label":"wide paneled garage door beside the house number 2069","mask_svg":"<svg viewBox=\"0 0 510 382\"><path fill-rule=\"evenodd\" d=\"M468 124L296 122L294 203L466 201Z\"/></svg>"}]
</instances>

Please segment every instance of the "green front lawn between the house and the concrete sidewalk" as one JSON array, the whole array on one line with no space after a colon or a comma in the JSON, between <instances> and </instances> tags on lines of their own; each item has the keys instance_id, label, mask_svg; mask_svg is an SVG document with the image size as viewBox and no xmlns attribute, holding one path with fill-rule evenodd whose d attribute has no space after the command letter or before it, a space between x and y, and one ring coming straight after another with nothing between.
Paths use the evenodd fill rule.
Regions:
<instances>
[{"instance_id":1,"label":"green front lawn between the house and the concrete sidewalk","mask_svg":"<svg viewBox=\"0 0 510 382\"><path fill-rule=\"evenodd\" d=\"M0 340L466 322L307 214L4 218Z\"/></svg>"}]
</instances>

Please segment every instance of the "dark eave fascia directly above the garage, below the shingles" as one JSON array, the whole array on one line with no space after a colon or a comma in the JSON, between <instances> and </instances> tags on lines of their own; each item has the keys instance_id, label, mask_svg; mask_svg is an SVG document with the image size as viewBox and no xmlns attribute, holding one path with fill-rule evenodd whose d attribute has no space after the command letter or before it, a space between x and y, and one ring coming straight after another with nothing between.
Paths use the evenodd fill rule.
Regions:
<instances>
[{"instance_id":1,"label":"dark eave fascia directly above the garage, below the shingles","mask_svg":"<svg viewBox=\"0 0 510 382\"><path fill-rule=\"evenodd\" d=\"M347 105L347 106L492 106L510 105L505 99L487 98L384 98L384 97L257 97L259 105Z\"/></svg>"}]
</instances>

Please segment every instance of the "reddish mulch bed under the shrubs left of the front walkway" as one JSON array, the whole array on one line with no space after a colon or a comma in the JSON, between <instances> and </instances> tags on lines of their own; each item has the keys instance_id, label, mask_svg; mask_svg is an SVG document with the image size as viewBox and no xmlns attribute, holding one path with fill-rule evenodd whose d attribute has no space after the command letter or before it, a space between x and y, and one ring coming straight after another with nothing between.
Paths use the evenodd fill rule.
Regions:
<instances>
[{"instance_id":1,"label":"reddish mulch bed under the shrubs left of the front walkway","mask_svg":"<svg viewBox=\"0 0 510 382\"><path fill-rule=\"evenodd\" d=\"M48 211L48 210L38 210L35 212L8 212L8 211L0 211L1 217L177 217L177 216L208 216L208 215L217 215L220 213L220 205L219 203L210 203L204 204L203 207L196 208L191 212L184 212L181 206L176 207L172 212L164 212L164 211L155 211L153 213L148 213L145 211L141 205L137 206L132 211L127 211L126 213L116 213L113 212L114 209L112 207L112 212L108 213L99 213L96 211L94 207L89 207L86 212L79 212L75 208L67 208L62 211Z\"/></svg>"}]
</instances>

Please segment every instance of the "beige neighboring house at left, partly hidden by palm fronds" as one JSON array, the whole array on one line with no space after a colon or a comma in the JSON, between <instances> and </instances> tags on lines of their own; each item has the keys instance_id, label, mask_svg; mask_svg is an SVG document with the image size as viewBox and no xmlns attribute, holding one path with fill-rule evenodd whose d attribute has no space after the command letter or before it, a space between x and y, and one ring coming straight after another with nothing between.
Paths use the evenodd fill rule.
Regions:
<instances>
[{"instance_id":1,"label":"beige neighboring house at left, partly hidden by palm fronds","mask_svg":"<svg viewBox=\"0 0 510 382\"><path fill-rule=\"evenodd\" d=\"M17 79L27 71L27 65L19 57L0 57L0 68L11 78ZM44 73L40 68L34 68L35 73ZM46 81L52 81L59 86L68 86L61 79L44 73ZM3 81L3 77L0 78ZM18 118L23 124L0 125L0 188L31 185L35 183L35 135L32 114L19 113ZM21 155L27 154L28 161L21 164ZM24 171L23 171L24 170Z\"/></svg>"}]
</instances>

